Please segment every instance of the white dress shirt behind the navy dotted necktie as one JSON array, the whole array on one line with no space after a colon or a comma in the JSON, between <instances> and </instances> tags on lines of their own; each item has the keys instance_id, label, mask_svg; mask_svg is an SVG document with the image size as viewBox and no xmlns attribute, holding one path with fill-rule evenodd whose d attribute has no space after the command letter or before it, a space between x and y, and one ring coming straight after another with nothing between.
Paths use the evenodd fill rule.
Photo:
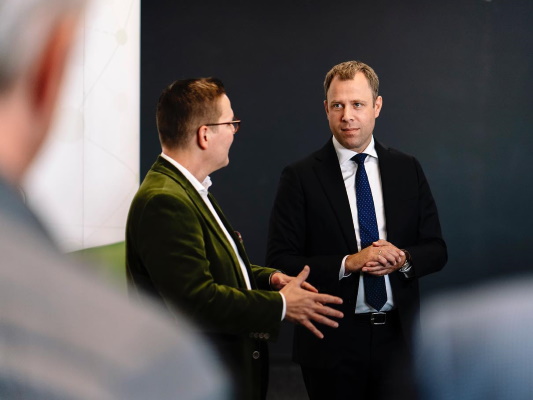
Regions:
<instances>
[{"instance_id":1,"label":"white dress shirt behind the navy dotted necktie","mask_svg":"<svg viewBox=\"0 0 533 400\"><path fill-rule=\"evenodd\" d=\"M355 229L355 236L357 240L357 248L361 251L361 236L359 234L359 219L357 217L357 201L355 196L355 173L357 172L357 163L352 161L351 158L357 153L352 150L348 150L343 147L335 137L333 137L333 146L339 159L341 167L342 178L346 188L346 194L348 195L348 201L350 203L350 210L352 212L352 221ZM365 159L365 170L368 176L368 183L370 184L370 190L372 191L372 199L374 200L374 208L376 210L376 221L378 224L379 238L387 240L387 230L385 225L385 208L383 205L383 190L381 188L381 176L379 174L378 155L376 153L374 136L370 141L367 148L362 152L368 154ZM348 257L348 256L346 256ZM341 268L339 271L339 279L342 279L348 275L345 275L345 261L346 257L342 260ZM390 311L394 308L394 299L392 297L392 290L390 286L389 276L385 275L385 288L387 290L387 302L381 309L381 311ZM357 293L357 301L355 306L355 312L368 313L376 312L372 306L365 302L365 289L363 274L359 274L359 290Z\"/></svg>"}]
</instances>

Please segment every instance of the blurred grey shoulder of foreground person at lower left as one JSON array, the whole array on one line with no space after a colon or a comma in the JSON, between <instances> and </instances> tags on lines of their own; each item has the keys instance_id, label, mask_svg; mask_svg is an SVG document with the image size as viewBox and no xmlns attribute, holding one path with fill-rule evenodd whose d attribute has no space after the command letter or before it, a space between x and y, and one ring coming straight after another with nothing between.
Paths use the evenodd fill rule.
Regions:
<instances>
[{"instance_id":1,"label":"blurred grey shoulder of foreground person at lower left","mask_svg":"<svg viewBox=\"0 0 533 400\"><path fill-rule=\"evenodd\" d=\"M0 397L227 399L188 321L166 318L0 213Z\"/></svg>"}]
</instances>

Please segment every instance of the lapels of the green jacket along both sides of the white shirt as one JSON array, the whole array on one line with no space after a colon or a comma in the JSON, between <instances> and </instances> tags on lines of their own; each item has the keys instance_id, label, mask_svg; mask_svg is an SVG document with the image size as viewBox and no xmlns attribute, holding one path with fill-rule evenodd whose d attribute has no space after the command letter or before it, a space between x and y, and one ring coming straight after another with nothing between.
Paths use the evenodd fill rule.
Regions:
<instances>
[{"instance_id":1,"label":"lapels of the green jacket along both sides of the white shirt","mask_svg":"<svg viewBox=\"0 0 533 400\"><path fill-rule=\"evenodd\" d=\"M162 157L158 157L157 161L152 166L152 169L156 172L167 175L168 177L176 181L185 190L185 192L191 198L197 210L200 212L200 214L202 214L202 216L206 220L209 228L213 231L213 233L218 238L222 246L224 246L229 257L232 259L233 265L234 265L233 269L235 271L237 280L239 281L239 285L243 288L246 288L246 281L242 275L242 271L239 266L239 260L236 257L235 251L233 250L233 246L231 246L231 244L228 242L226 235L220 228L220 225L218 224L217 220L211 213L211 210L207 207L204 199L202 199L202 196L194 188L192 183L189 182L189 180L177 168L175 168L171 163L169 163L167 160L165 160ZM217 212L220 220L222 221L222 223L224 224L227 231L232 236L233 240L235 241L237 245L237 249L239 250L240 256L244 261L246 270L248 272L248 276L250 278L250 284L253 289L254 287L256 287L255 281L253 280L253 275L251 273L248 257L246 256L244 247L242 246L239 240L235 240L235 237L236 237L235 232L233 228L231 228L231 225L229 224L224 214L222 213L222 210L220 209L220 206L216 202L215 198L211 194L209 194L208 197L209 197L209 200L211 201L211 204L213 205L213 208Z\"/></svg>"}]
</instances>

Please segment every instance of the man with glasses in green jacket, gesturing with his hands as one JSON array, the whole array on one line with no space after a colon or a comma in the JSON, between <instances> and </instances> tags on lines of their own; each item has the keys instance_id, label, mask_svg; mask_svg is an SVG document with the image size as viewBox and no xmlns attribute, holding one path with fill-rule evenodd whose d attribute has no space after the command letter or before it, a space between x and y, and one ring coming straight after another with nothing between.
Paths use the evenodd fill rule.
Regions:
<instances>
[{"instance_id":1,"label":"man with glasses in green jacket, gesturing with his hands","mask_svg":"<svg viewBox=\"0 0 533 400\"><path fill-rule=\"evenodd\" d=\"M239 124L217 79L176 81L163 91L157 107L163 153L130 208L127 272L134 292L191 316L231 367L239 397L258 399L266 396L265 342L277 336L281 321L323 337L312 321L336 327L327 316L342 313L324 306L339 298L304 282L308 267L292 278L251 265L208 193L209 174L228 164Z\"/></svg>"}]
</instances>

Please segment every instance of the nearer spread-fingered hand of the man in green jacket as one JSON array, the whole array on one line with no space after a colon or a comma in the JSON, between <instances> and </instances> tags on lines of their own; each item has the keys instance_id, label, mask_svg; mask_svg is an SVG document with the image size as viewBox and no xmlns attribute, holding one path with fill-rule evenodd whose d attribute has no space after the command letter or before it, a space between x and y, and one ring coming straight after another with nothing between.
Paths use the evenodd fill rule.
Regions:
<instances>
[{"instance_id":1,"label":"nearer spread-fingered hand of the man in green jacket","mask_svg":"<svg viewBox=\"0 0 533 400\"><path fill-rule=\"evenodd\" d=\"M324 335L315 327L313 322L318 322L332 328L338 327L338 322L328 317L342 318L344 315L342 312L324 304L342 304L342 299L329 294L315 293L304 289L303 286L309 276L309 271L310 269L306 265L297 277L292 278L280 290L287 302L285 319L305 326L316 337L322 339Z\"/></svg>"}]
</instances>

